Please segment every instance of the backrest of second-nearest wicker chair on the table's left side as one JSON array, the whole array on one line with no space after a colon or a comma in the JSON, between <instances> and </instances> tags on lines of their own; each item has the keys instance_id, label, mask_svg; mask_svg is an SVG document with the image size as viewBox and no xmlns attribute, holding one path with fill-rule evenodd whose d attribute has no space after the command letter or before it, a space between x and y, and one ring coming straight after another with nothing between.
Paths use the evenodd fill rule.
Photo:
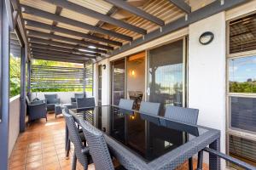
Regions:
<instances>
[{"instance_id":1,"label":"backrest of second-nearest wicker chair on the table's left side","mask_svg":"<svg viewBox=\"0 0 256 170\"><path fill-rule=\"evenodd\" d=\"M85 169L87 169L88 159L87 159L87 156L84 156L84 154L81 151L84 149L84 145L79 136L79 130L78 130L78 127L76 126L76 123L74 122L74 117L68 113L67 109L65 109L62 114L65 117L65 121L67 124L69 139L71 140L71 142L74 145L75 155L77 156L81 165Z\"/></svg>"}]
</instances>

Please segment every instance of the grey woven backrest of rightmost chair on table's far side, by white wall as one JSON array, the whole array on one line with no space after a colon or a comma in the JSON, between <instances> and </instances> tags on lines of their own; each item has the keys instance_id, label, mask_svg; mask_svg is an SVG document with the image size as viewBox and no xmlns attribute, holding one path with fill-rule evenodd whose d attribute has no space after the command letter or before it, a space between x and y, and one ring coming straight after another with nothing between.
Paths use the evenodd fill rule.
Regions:
<instances>
[{"instance_id":1,"label":"grey woven backrest of rightmost chair on table's far side, by white wall","mask_svg":"<svg viewBox=\"0 0 256 170\"><path fill-rule=\"evenodd\" d=\"M198 109L168 105L166 106L165 117L173 119L178 122L185 122L195 125L197 124L198 113Z\"/></svg>"}]
</instances>

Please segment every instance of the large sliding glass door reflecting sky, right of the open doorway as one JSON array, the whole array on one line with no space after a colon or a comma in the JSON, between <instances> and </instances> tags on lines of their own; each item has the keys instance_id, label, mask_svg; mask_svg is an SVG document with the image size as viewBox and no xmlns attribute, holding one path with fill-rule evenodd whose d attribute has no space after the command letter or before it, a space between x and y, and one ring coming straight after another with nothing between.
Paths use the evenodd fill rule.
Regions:
<instances>
[{"instance_id":1,"label":"large sliding glass door reflecting sky, right of the open doorway","mask_svg":"<svg viewBox=\"0 0 256 170\"><path fill-rule=\"evenodd\" d=\"M147 100L166 105L184 105L184 40L148 51Z\"/></svg>"}]
</instances>

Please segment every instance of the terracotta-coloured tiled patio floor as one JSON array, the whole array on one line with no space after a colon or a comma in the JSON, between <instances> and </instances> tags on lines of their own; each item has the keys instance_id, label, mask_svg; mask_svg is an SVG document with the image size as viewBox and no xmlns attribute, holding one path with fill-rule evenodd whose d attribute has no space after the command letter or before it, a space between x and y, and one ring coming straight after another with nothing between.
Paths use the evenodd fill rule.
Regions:
<instances>
[{"instance_id":1,"label":"terracotta-coloured tiled patio floor","mask_svg":"<svg viewBox=\"0 0 256 170\"><path fill-rule=\"evenodd\" d=\"M26 128L15 144L9 159L10 170L70 170L72 165L72 151L70 158L65 158L65 122L62 116L55 119L55 114L48 114L45 119L33 122ZM196 163L194 162L194 167ZM188 164L184 163L178 170L187 170ZM78 164L77 169L82 169ZM94 169L91 164L90 170ZM204 169L208 169L204 165Z\"/></svg>"}]
</instances>

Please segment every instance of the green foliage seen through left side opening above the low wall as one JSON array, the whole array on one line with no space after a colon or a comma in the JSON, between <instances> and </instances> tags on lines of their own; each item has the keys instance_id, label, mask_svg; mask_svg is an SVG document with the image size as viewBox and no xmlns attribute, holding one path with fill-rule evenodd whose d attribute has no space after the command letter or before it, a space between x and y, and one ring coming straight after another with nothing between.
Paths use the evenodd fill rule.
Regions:
<instances>
[{"instance_id":1,"label":"green foliage seen through left side opening above the low wall","mask_svg":"<svg viewBox=\"0 0 256 170\"><path fill-rule=\"evenodd\" d=\"M14 97L15 95L20 94L20 58L10 55L9 63L9 95L10 97Z\"/></svg>"}]
</instances>

